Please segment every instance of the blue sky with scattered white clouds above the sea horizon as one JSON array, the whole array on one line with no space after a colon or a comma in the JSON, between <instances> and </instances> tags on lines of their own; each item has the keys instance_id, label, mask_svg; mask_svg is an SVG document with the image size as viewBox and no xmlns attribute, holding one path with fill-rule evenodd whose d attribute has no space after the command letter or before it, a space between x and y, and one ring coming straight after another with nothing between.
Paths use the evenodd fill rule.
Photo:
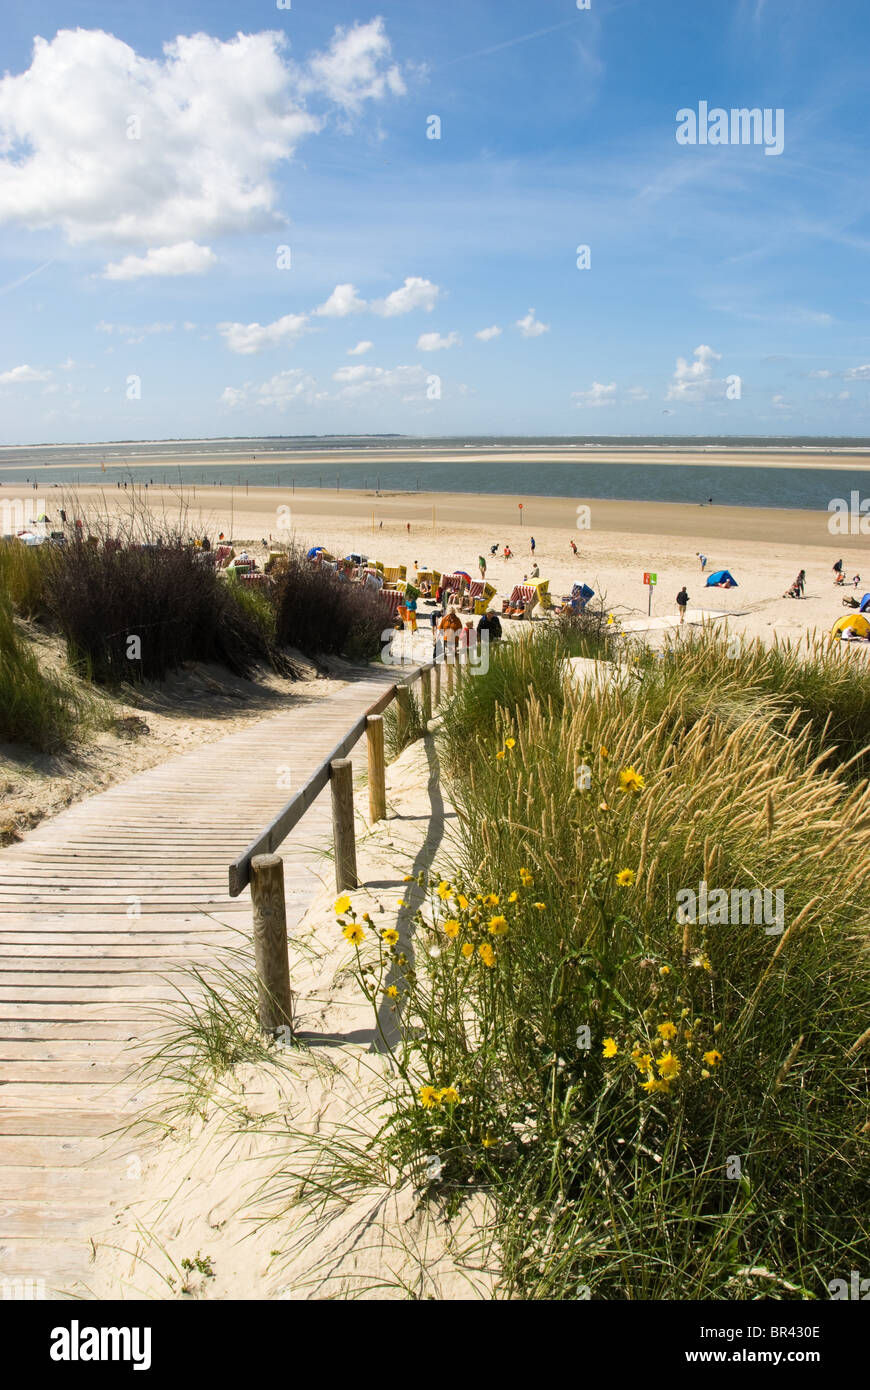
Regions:
<instances>
[{"instance_id":1,"label":"blue sky with scattered white clouds above the sea horizon","mask_svg":"<svg viewBox=\"0 0 870 1390\"><path fill-rule=\"evenodd\" d=\"M870 435L869 39L866 0L7 0L0 442ZM781 153L680 145L700 103Z\"/></svg>"}]
</instances>

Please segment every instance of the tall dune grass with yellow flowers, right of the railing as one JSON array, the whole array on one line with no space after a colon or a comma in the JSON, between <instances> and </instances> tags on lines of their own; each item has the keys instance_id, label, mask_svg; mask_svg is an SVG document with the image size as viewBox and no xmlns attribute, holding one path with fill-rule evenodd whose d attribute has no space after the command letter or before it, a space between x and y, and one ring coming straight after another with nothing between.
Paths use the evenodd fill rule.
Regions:
<instances>
[{"instance_id":1,"label":"tall dune grass with yellow flowers, right of the railing","mask_svg":"<svg viewBox=\"0 0 870 1390\"><path fill-rule=\"evenodd\" d=\"M399 1170L436 1156L442 1195L491 1193L509 1294L827 1297L870 1254L867 783L817 752L823 709L760 688L720 717L707 645L667 701L666 677L556 694L543 642L502 659L491 692L521 671L525 698L488 721L486 677L456 698L456 860L407 940L339 903L360 987L392 980L403 1019L379 1143ZM702 883L780 891L780 926L680 920Z\"/></svg>"}]
</instances>

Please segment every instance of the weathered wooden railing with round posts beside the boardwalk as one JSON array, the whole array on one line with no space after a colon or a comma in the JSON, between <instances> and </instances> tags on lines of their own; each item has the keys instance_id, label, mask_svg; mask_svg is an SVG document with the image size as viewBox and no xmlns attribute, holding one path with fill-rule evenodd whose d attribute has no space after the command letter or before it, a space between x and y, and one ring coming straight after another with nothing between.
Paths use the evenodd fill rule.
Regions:
<instances>
[{"instance_id":1,"label":"weathered wooden railing with round posts beside the boardwalk","mask_svg":"<svg viewBox=\"0 0 870 1390\"><path fill-rule=\"evenodd\" d=\"M335 847L335 887L338 892L357 888L356 828L353 819L353 766L350 751L363 734L368 742L368 813L372 823L386 815L386 781L384 759L384 710L396 701L399 739L410 723L410 688L421 685L421 713L424 726L432 719L434 706L441 702L441 671L446 673L446 694L453 692L453 681L460 681L464 670L460 653L450 653L446 662L425 662L409 671L402 681L379 699L345 734L340 744L309 777L304 787L292 796L275 819L257 835L238 859L229 865L229 895L238 895L250 884L253 903L254 959L257 970L260 1027L267 1033L293 1027L293 1004L288 960L286 903L284 894L284 860L275 853L295 826L327 785L332 788L332 838Z\"/></svg>"}]
</instances>

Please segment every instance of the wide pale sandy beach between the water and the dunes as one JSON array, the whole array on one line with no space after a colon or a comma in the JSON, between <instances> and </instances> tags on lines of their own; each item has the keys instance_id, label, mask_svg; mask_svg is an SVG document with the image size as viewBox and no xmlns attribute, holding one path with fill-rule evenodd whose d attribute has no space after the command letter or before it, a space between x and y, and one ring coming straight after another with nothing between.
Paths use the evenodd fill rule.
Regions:
<instances>
[{"instance_id":1,"label":"wide pale sandy beach between the water and the dunes","mask_svg":"<svg viewBox=\"0 0 870 1390\"><path fill-rule=\"evenodd\" d=\"M0 486L0 506L21 489ZM632 626L648 616L643 574L657 575L653 630L673 623L675 595L685 584L689 616L727 613L732 631L770 639L830 630L844 614L844 594L870 589L870 556L860 535L838 537L824 512L770 507L720 507L575 498L525 499L491 493L381 493L320 488L147 488L89 486L39 489L51 517L128 516L147 507L153 523L170 528L186 518L213 539L222 531L242 546L263 552L263 541L325 545L335 555L361 552L385 564L414 562L421 569L456 569L478 575L478 556L498 588L496 606L532 566L531 538L541 578L556 598L584 581ZM520 509L520 502L523 507ZM580 510L585 507L588 510ZM570 543L578 548L574 556ZM491 556L498 542L499 553ZM513 556L502 557L504 545ZM707 556L706 574L727 569L738 588L706 588L696 552ZM846 588L834 587L832 564L842 557ZM799 570L806 570L802 600L784 598ZM866 573L864 573L866 571ZM856 588L852 578L863 574Z\"/></svg>"}]
</instances>

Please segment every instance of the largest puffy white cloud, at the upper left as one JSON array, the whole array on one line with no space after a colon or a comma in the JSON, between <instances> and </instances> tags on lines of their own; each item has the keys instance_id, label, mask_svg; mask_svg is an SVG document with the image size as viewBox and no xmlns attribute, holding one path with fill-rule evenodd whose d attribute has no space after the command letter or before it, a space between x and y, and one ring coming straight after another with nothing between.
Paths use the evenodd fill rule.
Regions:
<instances>
[{"instance_id":1,"label":"largest puffy white cloud, at the upper left","mask_svg":"<svg viewBox=\"0 0 870 1390\"><path fill-rule=\"evenodd\" d=\"M0 78L0 220L158 247L282 225L272 171L325 122L306 100L404 90L382 19L338 28L307 67L286 43L193 33L153 58L100 29L36 38Z\"/></svg>"}]
</instances>

